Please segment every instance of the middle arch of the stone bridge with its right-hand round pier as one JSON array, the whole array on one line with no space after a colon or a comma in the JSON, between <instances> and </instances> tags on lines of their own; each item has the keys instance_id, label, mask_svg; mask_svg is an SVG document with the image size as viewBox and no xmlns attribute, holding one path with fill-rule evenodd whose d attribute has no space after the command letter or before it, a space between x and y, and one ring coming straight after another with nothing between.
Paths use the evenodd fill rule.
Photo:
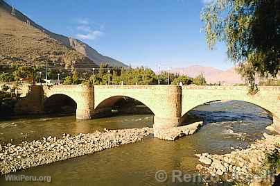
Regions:
<instances>
[{"instance_id":1,"label":"middle arch of the stone bridge with its right-hand round pier","mask_svg":"<svg viewBox=\"0 0 280 186\"><path fill-rule=\"evenodd\" d=\"M178 126L181 118L182 89L173 85L94 85L94 112L113 96L127 96L146 105L154 114L154 127ZM103 110L104 111L104 110Z\"/></svg>"}]
</instances>

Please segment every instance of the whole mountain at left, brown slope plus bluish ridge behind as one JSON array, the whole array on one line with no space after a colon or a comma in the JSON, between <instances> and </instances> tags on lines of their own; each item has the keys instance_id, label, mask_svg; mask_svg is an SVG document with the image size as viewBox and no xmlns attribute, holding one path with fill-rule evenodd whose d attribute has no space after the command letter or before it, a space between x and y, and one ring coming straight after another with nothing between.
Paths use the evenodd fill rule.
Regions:
<instances>
[{"instance_id":1,"label":"whole mountain at left, brown slope plus bluish ridge behind","mask_svg":"<svg viewBox=\"0 0 280 186\"><path fill-rule=\"evenodd\" d=\"M62 58L62 62L65 60L65 65L73 65L77 68L97 67L101 62L106 62L111 66L127 67L118 60L101 55L80 40L52 33L33 22L23 13L12 9L8 3L0 0L0 55L2 57L10 55L26 58L30 62L34 60L34 56L53 58L54 55L57 57L55 61ZM17 41L24 43L21 45ZM6 50L2 50L2 47ZM29 58L26 53L21 53L21 51L28 51Z\"/></svg>"}]
</instances>

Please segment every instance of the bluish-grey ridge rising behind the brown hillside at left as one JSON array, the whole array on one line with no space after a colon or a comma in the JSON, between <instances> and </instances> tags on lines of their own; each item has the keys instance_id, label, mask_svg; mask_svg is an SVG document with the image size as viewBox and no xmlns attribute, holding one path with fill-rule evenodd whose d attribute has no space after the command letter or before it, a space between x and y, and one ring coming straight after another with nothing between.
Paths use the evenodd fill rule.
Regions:
<instances>
[{"instance_id":1,"label":"bluish-grey ridge rising behind the brown hillside at left","mask_svg":"<svg viewBox=\"0 0 280 186\"><path fill-rule=\"evenodd\" d=\"M4 8L8 12L12 11L12 7L3 0L0 0L0 6L1 6L1 8ZM32 19L28 18L26 15L21 13L19 10L15 10L15 17L17 17L17 19L19 19L21 22L28 22L28 24L30 24L30 26L33 26L33 27L39 29L46 35L49 35L49 37L51 37L51 38L58 40L58 42L60 42L61 44L64 44L66 47L71 47L72 49L75 49L82 55L84 55L87 58L89 58L90 60L92 60L96 65L100 65L100 63L107 63L110 66L128 67L128 65L125 65L123 62L120 62L119 60L115 60L113 58L103 56L102 54L98 53L98 51L96 51L95 49L89 47L88 44L85 44L84 42L82 42L80 40L77 40L72 37L67 37L64 35L56 34L56 33L49 31L48 29L33 22Z\"/></svg>"}]
</instances>

